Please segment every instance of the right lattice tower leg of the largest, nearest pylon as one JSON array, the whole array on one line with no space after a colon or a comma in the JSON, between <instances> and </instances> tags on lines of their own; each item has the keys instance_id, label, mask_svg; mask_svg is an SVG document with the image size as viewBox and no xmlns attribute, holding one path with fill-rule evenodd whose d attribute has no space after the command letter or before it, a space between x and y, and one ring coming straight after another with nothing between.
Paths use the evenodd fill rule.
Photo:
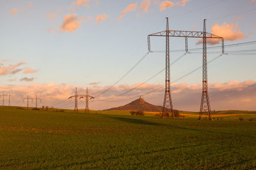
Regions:
<instances>
[{"instance_id":1,"label":"right lattice tower leg of the largest, nearest pylon","mask_svg":"<svg viewBox=\"0 0 256 170\"><path fill-rule=\"evenodd\" d=\"M203 77L202 77L202 99L200 106L199 119L201 119L202 115L205 114L211 118L211 106L209 101L208 94L208 82L207 82L207 41L206 41L206 27L205 27L205 19L204 19L204 35L203 35Z\"/></svg>"}]
</instances>

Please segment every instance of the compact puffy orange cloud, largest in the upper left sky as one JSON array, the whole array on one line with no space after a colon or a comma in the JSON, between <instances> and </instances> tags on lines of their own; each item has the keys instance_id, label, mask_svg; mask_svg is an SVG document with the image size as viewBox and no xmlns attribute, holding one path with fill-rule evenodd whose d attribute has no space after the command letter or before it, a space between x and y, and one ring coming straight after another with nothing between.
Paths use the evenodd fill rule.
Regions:
<instances>
[{"instance_id":1,"label":"compact puffy orange cloud, largest in the upper left sky","mask_svg":"<svg viewBox=\"0 0 256 170\"><path fill-rule=\"evenodd\" d=\"M64 17L63 23L60 25L60 31L73 32L81 27L83 18L77 18L76 13L68 14Z\"/></svg>"}]
</instances>

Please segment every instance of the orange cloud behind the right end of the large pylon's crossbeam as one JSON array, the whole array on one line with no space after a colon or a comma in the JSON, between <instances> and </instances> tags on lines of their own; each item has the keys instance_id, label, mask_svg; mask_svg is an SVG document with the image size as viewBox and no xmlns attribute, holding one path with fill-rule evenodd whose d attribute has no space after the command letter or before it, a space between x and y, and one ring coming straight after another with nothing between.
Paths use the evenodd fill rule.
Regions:
<instances>
[{"instance_id":1,"label":"orange cloud behind the right end of the large pylon's crossbeam","mask_svg":"<svg viewBox=\"0 0 256 170\"><path fill-rule=\"evenodd\" d=\"M214 24L212 25L211 32L216 36L223 37L225 41L236 41L238 39L244 39L245 36L243 32L240 31L237 25L238 23L227 24L226 22L224 22L222 25ZM209 43L210 45L216 45L220 43L220 41L221 39L207 39L207 43ZM197 44L200 43L202 43L202 39L200 39Z\"/></svg>"}]
</instances>

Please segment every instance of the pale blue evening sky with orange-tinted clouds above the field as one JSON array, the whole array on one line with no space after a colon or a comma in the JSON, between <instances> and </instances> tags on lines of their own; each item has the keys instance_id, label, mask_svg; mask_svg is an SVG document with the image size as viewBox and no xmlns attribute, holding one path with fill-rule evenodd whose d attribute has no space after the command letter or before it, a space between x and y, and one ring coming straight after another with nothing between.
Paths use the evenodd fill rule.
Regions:
<instances>
[{"instance_id":1,"label":"pale blue evening sky with orange-tinted clouds above the field","mask_svg":"<svg viewBox=\"0 0 256 170\"><path fill-rule=\"evenodd\" d=\"M134 87L164 68L164 52L147 54L147 36L166 29L202 31L222 36L225 45L255 41L255 0L0 0L0 99L11 94L11 104L26 106L25 96L40 96L39 105L74 108L67 101L84 94L88 87L93 110L120 106L139 96L163 104L164 71L152 80ZM208 41L208 46L220 45ZM152 38L154 51L165 50L164 38ZM188 39L188 47L200 48L200 39ZM209 98L212 110L256 110L256 55L234 50L255 50L255 44L225 48L227 55L208 66ZM184 38L170 38L171 63L184 52ZM208 50L208 60L221 49ZM219 53L220 52L220 53ZM171 66L173 108L198 111L202 91L202 52L188 53ZM104 90L116 85L101 94ZM150 94L148 92L154 90ZM131 92L120 96L120 94ZM8 97L4 96L4 104ZM1 101L1 105L3 101ZM34 103L29 103L31 106ZM84 108L84 101L79 101Z\"/></svg>"}]
</instances>

